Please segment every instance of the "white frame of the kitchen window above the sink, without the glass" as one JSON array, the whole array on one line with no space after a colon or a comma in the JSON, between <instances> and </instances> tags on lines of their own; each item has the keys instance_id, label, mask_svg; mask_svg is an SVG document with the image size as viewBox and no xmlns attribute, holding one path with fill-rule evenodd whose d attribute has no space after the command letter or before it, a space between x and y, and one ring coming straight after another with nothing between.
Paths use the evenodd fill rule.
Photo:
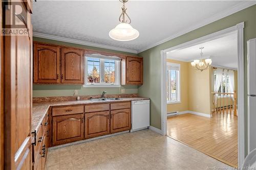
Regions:
<instances>
[{"instance_id":1,"label":"white frame of the kitchen window above the sink, without the glass","mask_svg":"<svg viewBox=\"0 0 256 170\"><path fill-rule=\"evenodd\" d=\"M88 56L90 57L90 56ZM100 57L98 55L94 58L99 58L99 76L100 76L100 83L87 83L87 55L84 56L84 84L83 87L90 87L90 88L98 88L98 87L121 87L121 61L115 60L115 83L102 83L103 77L104 77L104 61L105 60L111 60L111 59L105 59L103 56Z\"/></svg>"}]
</instances>

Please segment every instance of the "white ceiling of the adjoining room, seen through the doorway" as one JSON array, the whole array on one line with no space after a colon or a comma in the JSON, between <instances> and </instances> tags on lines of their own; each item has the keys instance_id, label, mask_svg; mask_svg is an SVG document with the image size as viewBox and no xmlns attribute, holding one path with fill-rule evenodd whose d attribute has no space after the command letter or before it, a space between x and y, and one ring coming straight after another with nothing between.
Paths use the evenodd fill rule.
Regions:
<instances>
[{"instance_id":1,"label":"white ceiling of the adjoining room, seen through the doorway","mask_svg":"<svg viewBox=\"0 0 256 170\"><path fill-rule=\"evenodd\" d=\"M187 62L200 59L201 50L199 47L201 46L204 47L203 58L211 58L212 65L228 67L231 69L238 68L236 33L198 45L183 48L182 50L168 52L167 58Z\"/></svg>"}]
</instances>

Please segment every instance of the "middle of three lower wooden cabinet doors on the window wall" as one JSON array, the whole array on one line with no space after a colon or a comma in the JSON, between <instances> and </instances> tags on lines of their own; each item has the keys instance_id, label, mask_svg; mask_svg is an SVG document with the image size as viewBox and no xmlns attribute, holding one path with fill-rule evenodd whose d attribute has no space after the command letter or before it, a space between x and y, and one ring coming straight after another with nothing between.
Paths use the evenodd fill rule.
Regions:
<instances>
[{"instance_id":1,"label":"middle of three lower wooden cabinet doors on the window wall","mask_svg":"<svg viewBox=\"0 0 256 170\"><path fill-rule=\"evenodd\" d=\"M110 112L86 113L86 138L97 137L110 133Z\"/></svg>"}]
</instances>

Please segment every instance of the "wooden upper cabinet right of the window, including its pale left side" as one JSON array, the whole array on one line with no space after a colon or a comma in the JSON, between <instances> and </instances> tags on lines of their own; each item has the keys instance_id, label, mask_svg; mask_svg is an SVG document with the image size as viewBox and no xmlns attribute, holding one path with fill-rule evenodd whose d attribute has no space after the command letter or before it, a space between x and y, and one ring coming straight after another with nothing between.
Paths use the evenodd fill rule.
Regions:
<instances>
[{"instance_id":1,"label":"wooden upper cabinet right of the window, including its pale left side","mask_svg":"<svg viewBox=\"0 0 256 170\"><path fill-rule=\"evenodd\" d=\"M143 84L143 58L127 57L121 63L121 84Z\"/></svg>"}]
</instances>

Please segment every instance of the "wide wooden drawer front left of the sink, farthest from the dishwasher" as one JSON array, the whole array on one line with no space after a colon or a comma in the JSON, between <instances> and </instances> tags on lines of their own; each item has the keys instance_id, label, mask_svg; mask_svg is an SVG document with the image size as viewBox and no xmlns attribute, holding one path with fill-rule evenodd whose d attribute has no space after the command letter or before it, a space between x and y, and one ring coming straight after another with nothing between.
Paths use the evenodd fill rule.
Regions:
<instances>
[{"instance_id":1,"label":"wide wooden drawer front left of the sink, farthest from the dishwasher","mask_svg":"<svg viewBox=\"0 0 256 170\"><path fill-rule=\"evenodd\" d=\"M83 113L83 106L58 107L52 109L53 116Z\"/></svg>"}]
</instances>

